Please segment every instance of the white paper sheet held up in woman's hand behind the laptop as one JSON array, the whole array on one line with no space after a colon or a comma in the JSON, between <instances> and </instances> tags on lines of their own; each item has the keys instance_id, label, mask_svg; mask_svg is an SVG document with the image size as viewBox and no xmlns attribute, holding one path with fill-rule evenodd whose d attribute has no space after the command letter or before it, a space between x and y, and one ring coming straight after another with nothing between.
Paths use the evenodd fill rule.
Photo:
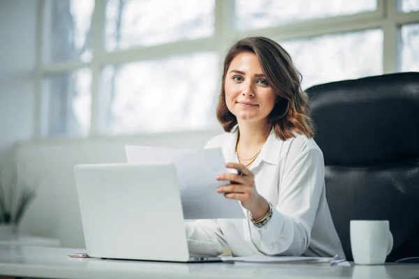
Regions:
<instances>
[{"instance_id":1,"label":"white paper sheet held up in woman's hand behind the laptop","mask_svg":"<svg viewBox=\"0 0 419 279\"><path fill-rule=\"evenodd\" d=\"M226 199L216 188L228 181L216 175L228 172L219 149L168 149L125 146L128 163L175 163L184 219L244 218L242 206Z\"/></svg>"}]
</instances>

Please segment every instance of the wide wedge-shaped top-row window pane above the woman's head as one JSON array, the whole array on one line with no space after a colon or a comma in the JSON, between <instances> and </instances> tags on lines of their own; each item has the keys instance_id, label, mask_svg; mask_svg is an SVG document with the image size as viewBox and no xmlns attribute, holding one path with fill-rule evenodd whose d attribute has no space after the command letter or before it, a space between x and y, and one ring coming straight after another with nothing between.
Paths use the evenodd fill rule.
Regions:
<instances>
[{"instance_id":1,"label":"wide wedge-shaped top-row window pane above the woman's head","mask_svg":"<svg viewBox=\"0 0 419 279\"><path fill-rule=\"evenodd\" d=\"M337 15L376 10L376 0L235 0L235 27L240 30L274 27Z\"/></svg>"}]
</instances>

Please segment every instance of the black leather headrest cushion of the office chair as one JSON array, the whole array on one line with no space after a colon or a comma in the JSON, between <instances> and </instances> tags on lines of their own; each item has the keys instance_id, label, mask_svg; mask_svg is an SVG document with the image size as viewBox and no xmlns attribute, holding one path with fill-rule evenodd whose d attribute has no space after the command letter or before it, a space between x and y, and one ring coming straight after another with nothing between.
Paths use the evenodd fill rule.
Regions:
<instances>
[{"instance_id":1,"label":"black leather headrest cushion of the office chair","mask_svg":"<svg viewBox=\"0 0 419 279\"><path fill-rule=\"evenodd\" d=\"M330 82L307 93L326 165L419 158L419 73Z\"/></svg>"}]
</instances>

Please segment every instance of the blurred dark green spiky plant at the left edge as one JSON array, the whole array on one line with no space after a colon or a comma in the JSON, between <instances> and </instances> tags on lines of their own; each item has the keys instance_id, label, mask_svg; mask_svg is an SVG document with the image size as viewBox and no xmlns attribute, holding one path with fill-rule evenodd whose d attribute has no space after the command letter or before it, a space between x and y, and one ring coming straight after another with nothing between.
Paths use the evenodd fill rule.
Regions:
<instances>
[{"instance_id":1,"label":"blurred dark green spiky plant at the left edge","mask_svg":"<svg viewBox=\"0 0 419 279\"><path fill-rule=\"evenodd\" d=\"M35 191L20 181L15 169L7 172L10 176L8 179L1 174L6 174L6 172L0 173L0 225L18 225L30 202L34 199Z\"/></svg>"}]
</instances>

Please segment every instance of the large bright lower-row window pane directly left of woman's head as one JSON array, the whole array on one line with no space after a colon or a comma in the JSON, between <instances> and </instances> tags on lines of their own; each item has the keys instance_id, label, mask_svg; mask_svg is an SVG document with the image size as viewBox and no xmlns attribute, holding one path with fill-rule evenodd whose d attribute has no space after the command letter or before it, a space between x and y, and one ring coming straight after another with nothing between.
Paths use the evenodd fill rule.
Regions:
<instances>
[{"instance_id":1,"label":"large bright lower-row window pane directly left of woman's head","mask_svg":"<svg viewBox=\"0 0 419 279\"><path fill-rule=\"evenodd\" d=\"M107 133L155 133L216 125L212 52L106 66L101 93Z\"/></svg>"}]
</instances>

